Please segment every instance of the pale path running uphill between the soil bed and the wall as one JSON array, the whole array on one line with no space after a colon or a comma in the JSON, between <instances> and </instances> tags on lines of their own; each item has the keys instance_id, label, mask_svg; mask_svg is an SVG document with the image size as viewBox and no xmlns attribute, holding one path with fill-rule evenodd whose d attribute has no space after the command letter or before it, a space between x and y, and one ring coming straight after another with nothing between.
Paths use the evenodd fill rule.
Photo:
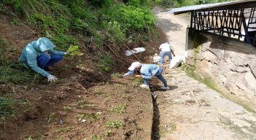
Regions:
<instances>
[{"instance_id":1,"label":"pale path running uphill between the soil bed and the wall","mask_svg":"<svg viewBox=\"0 0 256 140\"><path fill-rule=\"evenodd\" d=\"M154 12L177 55L185 53L187 15ZM167 67L167 66L166 66ZM159 132L155 139L256 139L256 116L220 93L188 77L180 69L165 70L171 90L157 91ZM199 104L191 91L195 91Z\"/></svg>"}]
</instances>

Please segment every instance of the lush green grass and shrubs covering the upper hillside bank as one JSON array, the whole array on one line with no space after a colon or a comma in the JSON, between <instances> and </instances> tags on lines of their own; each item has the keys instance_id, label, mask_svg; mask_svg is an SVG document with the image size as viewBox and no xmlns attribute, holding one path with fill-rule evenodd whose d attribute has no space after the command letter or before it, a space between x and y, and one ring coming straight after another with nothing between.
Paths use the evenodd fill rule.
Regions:
<instances>
[{"instance_id":1,"label":"lush green grass and shrubs covering the upper hillside bank","mask_svg":"<svg viewBox=\"0 0 256 140\"><path fill-rule=\"evenodd\" d=\"M125 38L142 32L150 33L155 18L150 10L153 1L119 3L107 1L4 0L23 15L62 50L88 39L101 47L103 42L123 43ZM141 5L142 4L142 5ZM14 22L17 23L17 22ZM78 34L78 36L77 36Z\"/></svg>"}]
</instances>

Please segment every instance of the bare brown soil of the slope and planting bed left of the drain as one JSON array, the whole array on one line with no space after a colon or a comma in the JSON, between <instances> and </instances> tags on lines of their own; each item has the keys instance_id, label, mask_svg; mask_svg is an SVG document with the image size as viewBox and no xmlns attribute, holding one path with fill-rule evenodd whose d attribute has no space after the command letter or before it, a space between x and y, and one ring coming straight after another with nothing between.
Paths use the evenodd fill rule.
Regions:
<instances>
[{"instance_id":1,"label":"bare brown soil of the slope and planting bed left of the drain","mask_svg":"<svg viewBox=\"0 0 256 140\"><path fill-rule=\"evenodd\" d=\"M17 50L16 55L7 58L17 61L22 48L40 34L15 16L0 12L0 18L1 39ZM10 23L13 18L19 25ZM136 55L149 62L152 57L148 56L165 39L161 33L160 39L128 46L145 47L146 52ZM0 139L150 139L153 115L150 92L139 88L138 79L116 76L128 71L136 58L122 55L120 59L113 55L114 69L104 73L96 67L93 52L82 51L86 55L65 58L51 68L58 82L49 83L39 77L39 82L29 84L1 83L1 96L28 104L15 106L17 112L0 124ZM152 86L158 89L158 80L152 81ZM120 106L125 106L123 112L118 112L122 110ZM111 128L115 125L107 125L109 121L120 121L123 126L117 128L119 123Z\"/></svg>"}]
</instances>

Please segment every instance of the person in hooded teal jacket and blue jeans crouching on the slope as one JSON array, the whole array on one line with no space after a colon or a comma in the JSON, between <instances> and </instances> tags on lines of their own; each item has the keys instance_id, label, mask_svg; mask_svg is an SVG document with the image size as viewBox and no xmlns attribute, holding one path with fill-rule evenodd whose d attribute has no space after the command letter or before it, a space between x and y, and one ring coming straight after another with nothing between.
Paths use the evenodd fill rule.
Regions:
<instances>
[{"instance_id":1,"label":"person in hooded teal jacket and blue jeans crouching on the slope","mask_svg":"<svg viewBox=\"0 0 256 140\"><path fill-rule=\"evenodd\" d=\"M63 59L66 52L55 51L55 44L45 37L41 37L34 42L30 42L23 48L19 61L43 77L48 78L48 82L55 81L55 76L49 74L49 66L53 66Z\"/></svg>"}]
</instances>

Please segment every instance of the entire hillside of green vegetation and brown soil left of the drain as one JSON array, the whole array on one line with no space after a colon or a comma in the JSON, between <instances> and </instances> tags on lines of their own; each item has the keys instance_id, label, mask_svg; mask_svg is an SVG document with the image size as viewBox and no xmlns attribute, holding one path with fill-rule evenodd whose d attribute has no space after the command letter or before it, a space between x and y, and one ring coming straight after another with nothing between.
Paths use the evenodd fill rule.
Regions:
<instances>
[{"instance_id":1,"label":"entire hillside of green vegetation and brown soil left of the drain","mask_svg":"<svg viewBox=\"0 0 256 140\"><path fill-rule=\"evenodd\" d=\"M150 127L141 125L151 120L136 118L130 124L126 118L151 117L147 109L151 98L141 102L148 95L138 88L140 79L127 82L118 77L136 60L125 58L127 47L146 47L137 56L147 62L147 55L154 53L150 48L159 44L161 34L151 12L154 4L144 0L0 1L0 139L150 136L144 132ZM18 62L22 48L40 36L52 40L56 50L69 52L50 68L58 77L52 83ZM112 112L114 106L121 106L125 114ZM80 123L79 117L88 123ZM106 125L116 118L126 126L111 133ZM66 121L64 125L58 124L59 119ZM104 132L106 136L101 135Z\"/></svg>"}]
</instances>

